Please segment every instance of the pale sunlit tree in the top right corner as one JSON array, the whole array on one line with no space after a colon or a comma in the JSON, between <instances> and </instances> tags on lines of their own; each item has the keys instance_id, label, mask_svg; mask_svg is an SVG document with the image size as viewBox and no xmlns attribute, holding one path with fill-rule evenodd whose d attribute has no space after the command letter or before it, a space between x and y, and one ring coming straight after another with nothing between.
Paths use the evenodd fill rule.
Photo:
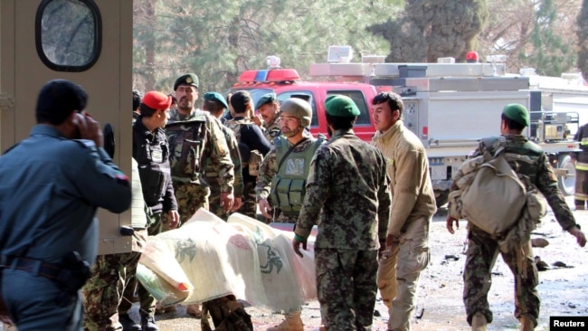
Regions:
<instances>
[{"instance_id":1,"label":"pale sunlit tree in the top right corner","mask_svg":"<svg viewBox=\"0 0 588 331\"><path fill-rule=\"evenodd\" d=\"M496 0L488 2L493 13L479 33L481 57L507 55L507 68L517 72L533 67L559 76L574 70L575 17L580 0Z\"/></svg>"}]
</instances>

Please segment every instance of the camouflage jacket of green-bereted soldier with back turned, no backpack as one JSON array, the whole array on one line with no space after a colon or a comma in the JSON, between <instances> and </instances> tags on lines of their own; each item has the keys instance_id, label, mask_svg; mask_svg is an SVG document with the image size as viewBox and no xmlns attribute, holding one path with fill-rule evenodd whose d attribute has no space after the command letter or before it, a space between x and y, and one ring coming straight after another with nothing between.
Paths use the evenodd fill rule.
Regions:
<instances>
[{"instance_id":1,"label":"camouflage jacket of green-bereted soldier with back turned, no backpack","mask_svg":"<svg viewBox=\"0 0 588 331\"><path fill-rule=\"evenodd\" d=\"M390 205L382 152L337 130L312 159L295 234L304 240L318 224L315 247L374 251L385 242Z\"/></svg>"}]
</instances>

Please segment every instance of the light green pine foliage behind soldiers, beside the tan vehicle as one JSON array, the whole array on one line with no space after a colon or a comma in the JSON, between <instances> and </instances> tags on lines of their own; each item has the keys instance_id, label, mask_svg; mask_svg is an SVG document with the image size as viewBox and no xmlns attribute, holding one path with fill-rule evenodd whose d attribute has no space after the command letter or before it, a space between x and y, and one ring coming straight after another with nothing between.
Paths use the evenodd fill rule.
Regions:
<instances>
[{"instance_id":1,"label":"light green pine foliage behind soldiers, beside the tan vehicle","mask_svg":"<svg viewBox=\"0 0 588 331\"><path fill-rule=\"evenodd\" d=\"M144 9L150 1L156 4L153 17ZM168 91L177 76L194 72L204 93L226 90L244 70L265 69L268 55L279 56L282 67L304 74L310 63L326 61L332 44L349 44L356 53L383 53L387 43L365 27L399 1L373 0L370 5L361 0L135 3L135 85ZM154 61L149 60L149 48L155 50Z\"/></svg>"}]
</instances>

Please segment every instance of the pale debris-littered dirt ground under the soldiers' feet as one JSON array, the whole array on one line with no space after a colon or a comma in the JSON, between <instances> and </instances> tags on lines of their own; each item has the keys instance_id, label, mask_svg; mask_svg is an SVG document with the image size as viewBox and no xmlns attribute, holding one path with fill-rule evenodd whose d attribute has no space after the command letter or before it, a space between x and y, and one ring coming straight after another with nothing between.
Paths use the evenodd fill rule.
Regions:
<instances>
[{"instance_id":1,"label":"pale debris-littered dirt ground under the soldiers' feet","mask_svg":"<svg viewBox=\"0 0 588 331\"><path fill-rule=\"evenodd\" d=\"M572 198L567 199L573 205ZM574 212L577 222L584 231L588 230L588 211ZM460 229L451 235L445 229L447 210L441 210L432 222L430 245L432 260L421 274L417 298L417 309L412 319L413 330L468 330L462 301L463 280L461 271L465 262L466 222L460 222ZM555 222L553 213L548 213L542 224L533 234L549 241L545 248L534 249L534 254L549 266L549 270L539 272L538 286L541 298L541 315L536 330L549 329L551 316L588 316L588 248L580 248L573 236L562 232ZM457 259L457 260L456 260ZM555 262L563 262L570 268L555 267ZM493 283L488 300L494 313L494 321L488 330L515 330L518 321L514 312L514 278L507 265L498 258L493 270ZM162 331L201 330L200 320L185 314L185 308L156 316L157 325ZM247 307L255 330L264 331L280 323L283 316L255 307ZM138 320L138 307L135 305L132 316ZM386 330L387 309L378 298L375 307L374 331ZM305 330L318 330L320 310L317 301L309 302L303 308L302 319ZM211 323L212 325L212 323ZM3 330L0 326L0 330Z\"/></svg>"}]
</instances>

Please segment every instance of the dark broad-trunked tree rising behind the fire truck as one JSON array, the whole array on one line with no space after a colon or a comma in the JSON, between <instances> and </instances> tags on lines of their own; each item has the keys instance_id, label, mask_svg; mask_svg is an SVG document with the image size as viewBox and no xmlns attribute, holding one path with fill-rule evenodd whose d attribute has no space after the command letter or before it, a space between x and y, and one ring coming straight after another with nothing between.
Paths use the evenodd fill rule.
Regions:
<instances>
[{"instance_id":1,"label":"dark broad-trunked tree rising behind the fire truck","mask_svg":"<svg viewBox=\"0 0 588 331\"><path fill-rule=\"evenodd\" d=\"M386 61L463 60L487 19L485 0L407 0L403 13L371 31L390 42Z\"/></svg>"}]
</instances>

